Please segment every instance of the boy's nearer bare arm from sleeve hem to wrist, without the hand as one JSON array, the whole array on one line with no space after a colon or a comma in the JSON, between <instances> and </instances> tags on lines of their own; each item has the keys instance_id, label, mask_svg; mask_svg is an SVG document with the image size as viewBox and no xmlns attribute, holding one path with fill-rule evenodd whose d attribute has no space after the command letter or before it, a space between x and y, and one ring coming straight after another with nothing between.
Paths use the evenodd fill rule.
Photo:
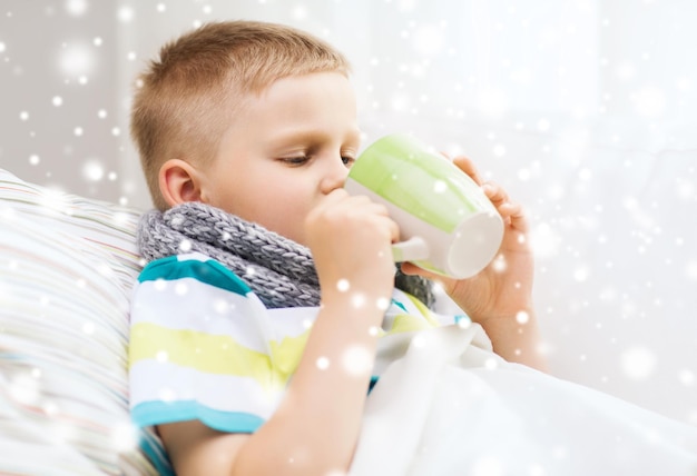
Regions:
<instances>
[{"instance_id":1,"label":"boy's nearer bare arm from sleeve hem to wrist, without the hand","mask_svg":"<svg viewBox=\"0 0 697 476\"><path fill-rule=\"evenodd\" d=\"M382 313L348 301L321 310L276 413L252 435L224 434L198 420L160 425L178 475L291 475L347 470L359 436ZM341 324L337 324L340 323ZM373 333L374 334L374 333ZM354 361L346 359L353 357Z\"/></svg>"}]
</instances>

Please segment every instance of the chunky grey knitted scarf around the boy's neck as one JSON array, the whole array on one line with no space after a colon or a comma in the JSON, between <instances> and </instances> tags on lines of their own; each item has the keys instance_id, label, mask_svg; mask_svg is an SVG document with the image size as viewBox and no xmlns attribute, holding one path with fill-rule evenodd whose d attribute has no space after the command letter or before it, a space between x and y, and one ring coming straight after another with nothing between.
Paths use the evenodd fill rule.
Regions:
<instances>
[{"instance_id":1,"label":"chunky grey knitted scarf around the boy's neck","mask_svg":"<svg viewBox=\"0 0 697 476\"><path fill-rule=\"evenodd\" d=\"M320 305L308 248L205 204L148 211L138 228L138 247L148 261L199 251L237 275L268 308ZM426 279L397 270L395 286L433 306Z\"/></svg>"}]
</instances>

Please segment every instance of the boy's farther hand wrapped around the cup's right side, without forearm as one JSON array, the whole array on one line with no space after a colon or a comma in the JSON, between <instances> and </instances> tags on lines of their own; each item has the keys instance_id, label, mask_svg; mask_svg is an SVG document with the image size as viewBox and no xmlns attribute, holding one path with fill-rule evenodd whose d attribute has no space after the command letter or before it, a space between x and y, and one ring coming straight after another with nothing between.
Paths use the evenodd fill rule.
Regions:
<instances>
[{"instance_id":1,"label":"boy's farther hand wrapped around the cup's right side, without forearm","mask_svg":"<svg viewBox=\"0 0 697 476\"><path fill-rule=\"evenodd\" d=\"M462 280L431 274L411 262L403 264L402 271L441 282L470 318L482 325L491 319L514 318L520 311L531 314L533 259L522 207L512 202L500 186L483 182L470 159L458 157L453 162L482 187L503 218L504 232L499 252L477 276Z\"/></svg>"}]
</instances>

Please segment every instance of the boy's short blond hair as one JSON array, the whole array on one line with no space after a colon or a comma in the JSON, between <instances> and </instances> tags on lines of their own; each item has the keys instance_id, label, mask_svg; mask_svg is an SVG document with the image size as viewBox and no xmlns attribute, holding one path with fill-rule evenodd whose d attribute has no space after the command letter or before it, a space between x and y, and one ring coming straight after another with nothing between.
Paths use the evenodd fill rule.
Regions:
<instances>
[{"instance_id":1,"label":"boy's short blond hair","mask_svg":"<svg viewBox=\"0 0 697 476\"><path fill-rule=\"evenodd\" d=\"M165 44L139 76L130 132L153 202L164 210L158 173L178 158L212 160L243 95L312 72L348 75L344 56L291 27L256 21L206 23Z\"/></svg>"}]
</instances>

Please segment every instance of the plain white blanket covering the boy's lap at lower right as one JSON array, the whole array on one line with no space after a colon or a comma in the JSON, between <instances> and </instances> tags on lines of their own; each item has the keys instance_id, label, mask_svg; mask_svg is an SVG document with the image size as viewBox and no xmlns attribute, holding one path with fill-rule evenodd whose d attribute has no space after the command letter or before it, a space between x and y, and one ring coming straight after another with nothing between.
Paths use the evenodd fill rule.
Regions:
<instances>
[{"instance_id":1,"label":"plain white blanket covering the boy's lap at lower right","mask_svg":"<svg viewBox=\"0 0 697 476\"><path fill-rule=\"evenodd\" d=\"M697 427L509 364L481 327L420 333L371 393L369 475L697 475Z\"/></svg>"}]
</instances>

